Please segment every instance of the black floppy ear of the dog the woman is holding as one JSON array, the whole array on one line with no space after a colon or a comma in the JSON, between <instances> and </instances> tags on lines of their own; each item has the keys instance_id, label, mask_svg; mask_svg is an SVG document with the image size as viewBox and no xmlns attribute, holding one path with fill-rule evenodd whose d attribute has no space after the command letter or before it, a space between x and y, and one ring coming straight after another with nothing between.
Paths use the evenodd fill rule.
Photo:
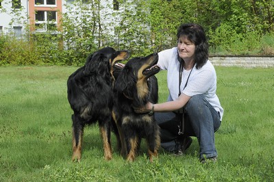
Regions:
<instances>
[{"instance_id":1,"label":"black floppy ear of the dog the woman is holding","mask_svg":"<svg viewBox=\"0 0 274 182\"><path fill-rule=\"evenodd\" d=\"M116 79L114 89L123 93L128 98L133 98L133 89L135 88L136 79L132 70L125 66L121 71L119 77Z\"/></svg>"}]
</instances>

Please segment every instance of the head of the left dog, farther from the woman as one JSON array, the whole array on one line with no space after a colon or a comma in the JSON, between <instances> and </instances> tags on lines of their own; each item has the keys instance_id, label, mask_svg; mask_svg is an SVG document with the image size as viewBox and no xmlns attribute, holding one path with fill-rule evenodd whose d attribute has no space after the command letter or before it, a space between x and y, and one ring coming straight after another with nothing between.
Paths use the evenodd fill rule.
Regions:
<instances>
[{"instance_id":1,"label":"head of the left dog, farther from the woman","mask_svg":"<svg viewBox=\"0 0 274 182\"><path fill-rule=\"evenodd\" d=\"M85 73L90 72L98 74L111 73L114 70L116 62L126 60L129 57L129 51L116 51L112 47L105 47L90 54L86 60Z\"/></svg>"}]
</instances>

